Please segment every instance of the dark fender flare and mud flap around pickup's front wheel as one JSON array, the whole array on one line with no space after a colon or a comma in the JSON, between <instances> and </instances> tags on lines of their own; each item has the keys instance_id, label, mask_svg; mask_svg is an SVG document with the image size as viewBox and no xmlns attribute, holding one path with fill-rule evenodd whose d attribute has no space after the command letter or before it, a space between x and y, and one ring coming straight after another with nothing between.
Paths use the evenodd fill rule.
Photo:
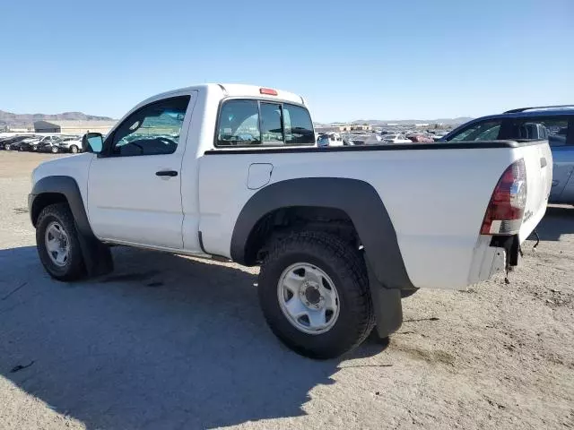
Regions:
<instances>
[{"instance_id":1,"label":"dark fender flare and mud flap around pickup's front wheel","mask_svg":"<svg viewBox=\"0 0 574 430\"><path fill-rule=\"evenodd\" d=\"M90 220L83 204L82 193L77 182L71 176L46 176L34 184L28 196L30 220L36 227L39 212L44 208L42 195L61 194L74 215L75 228L82 248L83 261L90 276L103 275L113 271L112 256L109 246L104 245L93 234ZM49 203L48 203L49 204Z\"/></svg>"}]
</instances>

